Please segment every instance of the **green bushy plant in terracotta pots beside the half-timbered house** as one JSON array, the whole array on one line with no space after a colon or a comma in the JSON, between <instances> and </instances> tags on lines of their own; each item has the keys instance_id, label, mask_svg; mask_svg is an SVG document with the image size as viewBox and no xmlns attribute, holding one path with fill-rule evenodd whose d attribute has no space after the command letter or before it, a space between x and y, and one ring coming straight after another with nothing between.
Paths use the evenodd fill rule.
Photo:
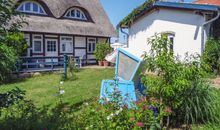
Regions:
<instances>
[{"instance_id":1,"label":"green bushy plant in terracotta pots beside the half-timbered house","mask_svg":"<svg viewBox=\"0 0 220 130\"><path fill-rule=\"evenodd\" d=\"M98 43L95 48L95 58L98 60L100 66L109 65L109 62L105 60L105 56L111 52L111 47L109 43Z\"/></svg>"}]
</instances>

